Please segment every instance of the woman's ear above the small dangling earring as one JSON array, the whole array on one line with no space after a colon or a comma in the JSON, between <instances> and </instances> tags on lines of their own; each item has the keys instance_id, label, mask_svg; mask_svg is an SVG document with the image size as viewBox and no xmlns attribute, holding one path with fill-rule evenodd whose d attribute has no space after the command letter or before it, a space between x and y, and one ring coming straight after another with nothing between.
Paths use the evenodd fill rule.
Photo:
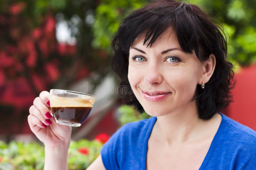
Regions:
<instances>
[{"instance_id":1,"label":"woman's ear above the small dangling earring","mask_svg":"<svg viewBox=\"0 0 256 170\"><path fill-rule=\"evenodd\" d=\"M215 65L216 65L215 55L210 54L209 59L202 62L203 69L202 69L201 78L200 78L198 84L202 84L203 81L204 81L204 83L207 83L210 80L210 78L212 77L212 74L214 72Z\"/></svg>"}]
</instances>

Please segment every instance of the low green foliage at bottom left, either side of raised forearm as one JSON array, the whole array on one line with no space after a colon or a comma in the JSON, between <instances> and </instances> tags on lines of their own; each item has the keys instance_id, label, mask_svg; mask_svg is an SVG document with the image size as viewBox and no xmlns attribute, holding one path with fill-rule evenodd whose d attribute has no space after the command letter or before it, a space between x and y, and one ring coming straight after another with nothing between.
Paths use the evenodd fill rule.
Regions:
<instances>
[{"instance_id":1,"label":"low green foliage at bottom left, either side of raised forearm","mask_svg":"<svg viewBox=\"0 0 256 170\"><path fill-rule=\"evenodd\" d=\"M88 154L79 152L79 148L88 148ZM99 155L103 146L98 141L81 139L71 141L68 150L68 169L86 169ZM0 141L0 169L34 170L44 167L44 146L37 143Z\"/></svg>"}]
</instances>

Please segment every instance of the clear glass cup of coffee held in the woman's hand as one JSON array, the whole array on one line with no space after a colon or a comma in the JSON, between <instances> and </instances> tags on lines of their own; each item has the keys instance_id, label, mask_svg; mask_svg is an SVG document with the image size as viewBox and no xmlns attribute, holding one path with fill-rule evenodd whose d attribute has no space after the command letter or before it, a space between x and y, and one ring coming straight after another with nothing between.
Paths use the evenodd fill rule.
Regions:
<instances>
[{"instance_id":1,"label":"clear glass cup of coffee held in the woman's hand","mask_svg":"<svg viewBox=\"0 0 256 170\"><path fill-rule=\"evenodd\" d=\"M58 124L81 126L90 114L95 96L60 89L50 90L50 106Z\"/></svg>"}]
</instances>

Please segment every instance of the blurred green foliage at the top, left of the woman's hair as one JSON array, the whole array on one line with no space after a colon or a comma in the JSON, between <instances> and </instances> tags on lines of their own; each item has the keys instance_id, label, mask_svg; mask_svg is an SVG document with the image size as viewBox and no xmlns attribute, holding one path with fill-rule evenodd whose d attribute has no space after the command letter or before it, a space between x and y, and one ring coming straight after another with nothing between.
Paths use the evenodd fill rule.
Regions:
<instances>
[{"instance_id":1,"label":"blurred green foliage at the top, left of the woman's hair","mask_svg":"<svg viewBox=\"0 0 256 170\"><path fill-rule=\"evenodd\" d=\"M140 8L146 0L103 0L96 8L95 21L93 24L94 48L105 49L110 52L110 39L117 32L121 19L129 11Z\"/></svg>"}]
</instances>

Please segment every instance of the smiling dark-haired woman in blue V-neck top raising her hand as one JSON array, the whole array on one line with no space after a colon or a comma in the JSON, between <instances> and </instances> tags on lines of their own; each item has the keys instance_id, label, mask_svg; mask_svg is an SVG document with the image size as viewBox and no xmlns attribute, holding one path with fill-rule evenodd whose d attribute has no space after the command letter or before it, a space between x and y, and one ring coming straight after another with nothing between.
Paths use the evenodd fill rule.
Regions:
<instances>
[{"instance_id":1,"label":"smiling dark-haired woman in blue V-neck top raising her hand","mask_svg":"<svg viewBox=\"0 0 256 170\"><path fill-rule=\"evenodd\" d=\"M256 132L219 113L230 102L227 43L196 5L157 1L124 18L112 68L149 119L120 128L88 169L255 169ZM71 128L49 114L49 93L28 123L45 145L45 169L67 169ZM241 113L242 114L242 113Z\"/></svg>"}]
</instances>

